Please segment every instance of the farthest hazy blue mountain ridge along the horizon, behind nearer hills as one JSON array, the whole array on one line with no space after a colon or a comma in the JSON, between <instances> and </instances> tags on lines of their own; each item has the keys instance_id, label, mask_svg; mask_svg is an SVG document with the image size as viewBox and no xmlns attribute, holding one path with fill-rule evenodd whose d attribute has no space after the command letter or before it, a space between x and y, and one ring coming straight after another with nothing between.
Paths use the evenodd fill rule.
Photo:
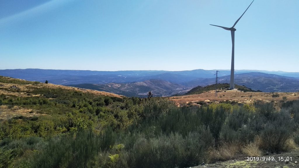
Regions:
<instances>
[{"instance_id":1,"label":"farthest hazy blue mountain ridge along the horizon, behind nearer hills","mask_svg":"<svg viewBox=\"0 0 299 168\"><path fill-rule=\"evenodd\" d=\"M235 70L235 74L248 72L262 72L288 77L299 77L299 72L260 71L260 70ZM173 83L183 83L198 78L214 78L216 70L196 69L190 71L89 71L89 70L51 70L51 69L5 69L0 70L0 75L20 78L31 81L51 81L54 84L103 84L111 82L141 82L150 79L161 79ZM220 70L219 77L230 75L230 70ZM170 81L171 80L171 81Z\"/></svg>"}]
</instances>

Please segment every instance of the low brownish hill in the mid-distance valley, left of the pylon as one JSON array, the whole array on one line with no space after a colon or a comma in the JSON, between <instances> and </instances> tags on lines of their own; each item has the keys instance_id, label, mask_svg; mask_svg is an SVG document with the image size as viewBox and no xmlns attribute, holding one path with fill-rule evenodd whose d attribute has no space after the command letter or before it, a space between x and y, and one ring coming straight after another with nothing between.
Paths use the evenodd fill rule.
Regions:
<instances>
[{"instance_id":1,"label":"low brownish hill in the mid-distance valley, left of the pylon","mask_svg":"<svg viewBox=\"0 0 299 168\"><path fill-rule=\"evenodd\" d=\"M185 93L189 90L189 88L184 87L183 85L156 79L135 83L79 84L71 86L107 91L128 97L147 97L149 91L151 91L155 97L161 97L177 93Z\"/></svg>"}]
</instances>

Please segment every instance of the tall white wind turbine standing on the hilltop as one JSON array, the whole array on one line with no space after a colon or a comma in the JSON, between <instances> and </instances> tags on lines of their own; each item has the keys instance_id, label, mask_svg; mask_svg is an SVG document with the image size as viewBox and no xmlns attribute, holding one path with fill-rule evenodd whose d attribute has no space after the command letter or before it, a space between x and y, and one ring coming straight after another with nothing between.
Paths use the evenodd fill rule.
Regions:
<instances>
[{"instance_id":1,"label":"tall white wind turbine standing on the hilltop","mask_svg":"<svg viewBox=\"0 0 299 168\"><path fill-rule=\"evenodd\" d=\"M252 4L252 2L251 2L251 4ZM250 7L250 5L248 6L248 8ZM245 10L245 12L246 12L246 10ZM236 31L236 29L234 27L239 22L239 20L244 15L244 13L239 17L239 19L235 22L235 24L231 28L227 28L227 27L223 27L223 26L217 26L217 25L212 25L212 26L217 26L217 27L223 28L225 30L231 30L232 51L231 51L231 83L230 83L230 89L234 89L235 88L235 82L234 82L234 71L235 71L235 69L234 69L234 58L235 58L235 56L234 56L234 54L235 54L235 31Z\"/></svg>"}]
</instances>

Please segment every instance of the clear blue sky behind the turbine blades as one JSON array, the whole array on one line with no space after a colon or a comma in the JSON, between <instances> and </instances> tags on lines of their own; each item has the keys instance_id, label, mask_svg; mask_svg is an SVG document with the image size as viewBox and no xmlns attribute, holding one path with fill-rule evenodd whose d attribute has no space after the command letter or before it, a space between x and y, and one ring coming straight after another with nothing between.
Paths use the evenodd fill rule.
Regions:
<instances>
[{"instance_id":1,"label":"clear blue sky behind the turbine blades","mask_svg":"<svg viewBox=\"0 0 299 168\"><path fill-rule=\"evenodd\" d=\"M0 69L230 69L251 0L0 0ZM235 69L299 72L299 1L255 0Z\"/></svg>"}]
</instances>

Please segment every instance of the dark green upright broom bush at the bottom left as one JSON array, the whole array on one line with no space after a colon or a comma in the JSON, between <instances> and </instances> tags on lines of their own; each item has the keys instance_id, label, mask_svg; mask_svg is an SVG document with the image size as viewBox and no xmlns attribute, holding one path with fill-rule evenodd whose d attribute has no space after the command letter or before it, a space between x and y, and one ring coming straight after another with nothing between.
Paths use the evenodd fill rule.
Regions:
<instances>
[{"instance_id":1,"label":"dark green upright broom bush at the bottom left","mask_svg":"<svg viewBox=\"0 0 299 168\"><path fill-rule=\"evenodd\" d=\"M41 152L31 157L30 167L86 167L100 152L100 137L92 132L78 132L53 138Z\"/></svg>"}]
</instances>

